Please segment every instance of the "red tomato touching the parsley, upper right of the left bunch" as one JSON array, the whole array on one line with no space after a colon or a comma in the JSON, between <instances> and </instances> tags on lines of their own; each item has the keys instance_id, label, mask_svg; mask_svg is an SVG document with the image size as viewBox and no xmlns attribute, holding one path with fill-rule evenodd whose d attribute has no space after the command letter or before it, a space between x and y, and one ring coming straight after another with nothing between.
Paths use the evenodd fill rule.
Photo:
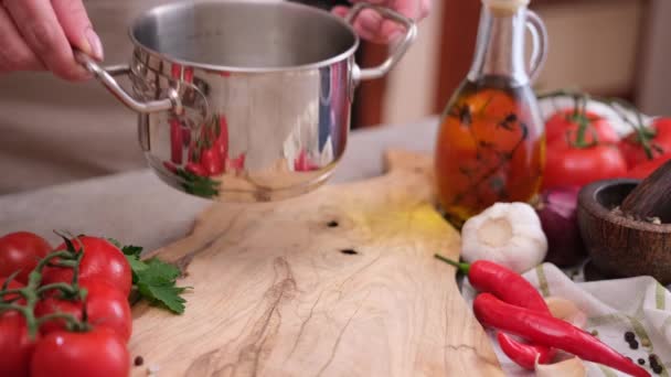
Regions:
<instances>
[{"instance_id":1,"label":"red tomato touching the parsley, upper right of the left bunch","mask_svg":"<svg viewBox=\"0 0 671 377\"><path fill-rule=\"evenodd\" d=\"M75 250L84 248L84 257L79 265L79 280L104 281L118 289L124 295L130 293L131 271L124 252L107 239L82 236L72 239ZM57 250L65 250L65 244ZM71 282L73 270L71 268L46 267L42 273L42 283Z\"/></svg>"}]
</instances>

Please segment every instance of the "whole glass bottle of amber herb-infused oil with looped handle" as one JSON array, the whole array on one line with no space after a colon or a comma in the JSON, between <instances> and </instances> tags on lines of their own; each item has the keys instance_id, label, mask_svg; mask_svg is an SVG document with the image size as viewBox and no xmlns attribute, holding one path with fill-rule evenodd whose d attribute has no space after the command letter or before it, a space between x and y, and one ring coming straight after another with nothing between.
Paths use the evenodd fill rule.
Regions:
<instances>
[{"instance_id":1,"label":"whole glass bottle of amber herb-infused oil with looped handle","mask_svg":"<svg viewBox=\"0 0 671 377\"><path fill-rule=\"evenodd\" d=\"M530 202L541 187L545 132L523 62L526 23L536 36L533 76L544 56L542 22L520 1L483 1L473 64L440 119L438 198L456 226L496 202Z\"/></svg>"}]
</instances>

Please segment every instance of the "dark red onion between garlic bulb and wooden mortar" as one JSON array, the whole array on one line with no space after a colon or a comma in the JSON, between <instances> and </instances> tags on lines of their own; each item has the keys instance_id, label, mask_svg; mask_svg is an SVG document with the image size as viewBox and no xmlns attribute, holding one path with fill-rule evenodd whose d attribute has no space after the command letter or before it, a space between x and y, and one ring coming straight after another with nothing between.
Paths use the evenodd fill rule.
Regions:
<instances>
[{"instance_id":1,"label":"dark red onion between garlic bulb and wooden mortar","mask_svg":"<svg viewBox=\"0 0 671 377\"><path fill-rule=\"evenodd\" d=\"M577 265L586 255L577 222L581 187L555 187L544 191L536 212L547 237L545 261L558 267Z\"/></svg>"}]
</instances>

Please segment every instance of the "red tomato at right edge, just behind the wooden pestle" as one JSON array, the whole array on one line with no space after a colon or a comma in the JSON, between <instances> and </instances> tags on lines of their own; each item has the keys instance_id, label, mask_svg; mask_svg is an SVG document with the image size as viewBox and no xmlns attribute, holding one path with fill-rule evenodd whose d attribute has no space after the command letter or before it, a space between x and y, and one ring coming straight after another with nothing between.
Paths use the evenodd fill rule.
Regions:
<instances>
[{"instance_id":1,"label":"red tomato at right edge, just behind the wooden pestle","mask_svg":"<svg viewBox=\"0 0 671 377\"><path fill-rule=\"evenodd\" d=\"M618 144L629 169L671 152L671 118L656 119L643 132L647 133L645 138L648 139L652 159L649 159L646 154L646 149L637 131L626 136Z\"/></svg>"}]
</instances>

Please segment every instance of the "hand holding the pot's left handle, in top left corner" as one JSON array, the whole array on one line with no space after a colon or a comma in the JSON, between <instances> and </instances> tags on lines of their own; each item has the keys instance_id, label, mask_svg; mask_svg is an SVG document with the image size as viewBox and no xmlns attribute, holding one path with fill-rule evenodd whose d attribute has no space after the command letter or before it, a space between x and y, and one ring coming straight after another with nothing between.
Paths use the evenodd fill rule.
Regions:
<instances>
[{"instance_id":1,"label":"hand holding the pot's left handle, in top left corner","mask_svg":"<svg viewBox=\"0 0 671 377\"><path fill-rule=\"evenodd\" d=\"M87 78L73 46L103 60L82 0L0 0L0 74L49 69L70 80Z\"/></svg>"}]
</instances>

